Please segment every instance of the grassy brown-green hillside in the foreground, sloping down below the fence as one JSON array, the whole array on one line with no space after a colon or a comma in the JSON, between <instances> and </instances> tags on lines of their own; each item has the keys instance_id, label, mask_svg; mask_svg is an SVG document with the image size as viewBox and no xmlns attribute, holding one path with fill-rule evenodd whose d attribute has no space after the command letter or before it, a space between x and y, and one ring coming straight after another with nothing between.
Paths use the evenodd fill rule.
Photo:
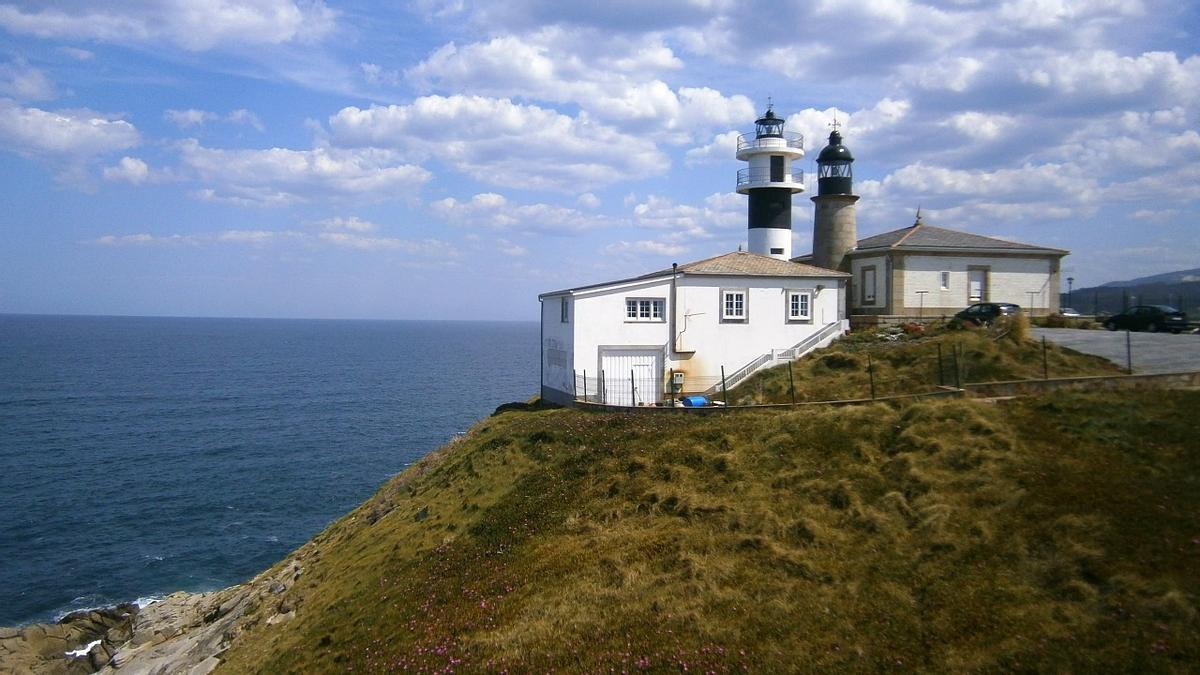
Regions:
<instances>
[{"instance_id":1,"label":"grassy brown-green hillside in the foreground, sloping down below the fence","mask_svg":"<svg viewBox=\"0 0 1200 675\"><path fill-rule=\"evenodd\" d=\"M281 563L221 671L1192 670L1198 411L505 412Z\"/></svg>"}]
</instances>

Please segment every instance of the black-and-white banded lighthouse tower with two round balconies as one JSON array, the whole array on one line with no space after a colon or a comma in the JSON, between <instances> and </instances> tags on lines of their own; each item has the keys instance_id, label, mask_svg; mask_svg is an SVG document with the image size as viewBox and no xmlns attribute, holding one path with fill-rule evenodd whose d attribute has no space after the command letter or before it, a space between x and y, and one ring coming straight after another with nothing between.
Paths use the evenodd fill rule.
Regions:
<instances>
[{"instance_id":1,"label":"black-and-white banded lighthouse tower with two round balconies","mask_svg":"<svg viewBox=\"0 0 1200 675\"><path fill-rule=\"evenodd\" d=\"M754 133L738 137L737 157L750 162L738 172L738 193L750 196L751 253L781 261L792 257L792 195L804 191L804 172L792 171L792 160L803 156L804 137L784 131L784 120L769 106L755 120Z\"/></svg>"}]
</instances>

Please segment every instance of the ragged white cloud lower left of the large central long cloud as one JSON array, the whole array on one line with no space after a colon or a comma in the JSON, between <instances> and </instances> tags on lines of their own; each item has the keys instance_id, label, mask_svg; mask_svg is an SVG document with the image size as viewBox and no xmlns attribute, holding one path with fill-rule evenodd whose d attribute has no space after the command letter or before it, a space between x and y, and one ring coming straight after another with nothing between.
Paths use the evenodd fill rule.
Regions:
<instances>
[{"instance_id":1,"label":"ragged white cloud lower left of the large central long cloud","mask_svg":"<svg viewBox=\"0 0 1200 675\"><path fill-rule=\"evenodd\" d=\"M180 156L202 180L218 186L202 191L202 198L238 203L305 202L322 196L382 199L412 195L430 179L424 168L373 148L221 150L188 139L180 144Z\"/></svg>"}]
</instances>

